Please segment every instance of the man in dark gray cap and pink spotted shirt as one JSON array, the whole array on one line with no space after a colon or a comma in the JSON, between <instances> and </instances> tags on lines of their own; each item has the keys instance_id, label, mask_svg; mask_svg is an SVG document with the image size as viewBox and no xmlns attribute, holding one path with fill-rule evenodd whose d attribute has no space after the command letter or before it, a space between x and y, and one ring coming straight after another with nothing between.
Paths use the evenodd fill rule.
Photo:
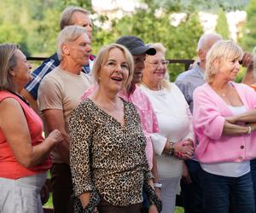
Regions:
<instances>
[{"instance_id":1,"label":"man in dark gray cap and pink spotted shirt","mask_svg":"<svg viewBox=\"0 0 256 213\"><path fill-rule=\"evenodd\" d=\"M154 189L156 193L160 196L160 187L156 161L154 160L154 148L150 139L150 134L158 132L157 119L154 114L153 107L151 106L148 96L139 89L136 83L140 83L143 76L144 60L146 55L155 55L156 51L154 48L150 48L145 45L142 39L136 36L124 36L120 37L116 43L119 43L125 46L130 52L134 60L134 72L133 78L131 80L131 85L128 89L119 93L119 96L122 97L125 101L132 102L137 107L137 112L141 118L141 123L143 127L143 133L147 139L146 146L146 155L148 158L149 169L152 170L154 175ZM86 90L82 96L84 100L89 95L93 94L96 90L96 85ZM145 200L145 199L144 199ZM143 204L144 209L147 209L148 212L153 213L157 212L157 209L154 205L150 205L148 200ZM147 212L146 210L146 212Z\"/></svg>"}]
</instances>

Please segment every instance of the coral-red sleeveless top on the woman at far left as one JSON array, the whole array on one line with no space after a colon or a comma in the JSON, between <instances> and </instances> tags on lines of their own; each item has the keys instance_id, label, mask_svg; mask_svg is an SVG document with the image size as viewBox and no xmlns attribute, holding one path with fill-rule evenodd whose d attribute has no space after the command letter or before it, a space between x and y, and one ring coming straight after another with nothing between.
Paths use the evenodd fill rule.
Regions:
<instances>
[{"instance_id":1,"label":"coral-red sleeveless top on the woman at far left","mask_svg":"<svg viewBox=\"0 0 256 213\"><path fill-rule=\"evenodd\" d=\"M9 93L8 91L0 91L0 102L6 98L14 98L20 103L26 117L26 122L31 135L32 146L36 146L44 141L43 124L38 114L27 106L18 96ZM51 160L47 158L44 163L38 164L31 168L26 168L21 165L9 146L8 141L3 135L0 128L0 177L9 179L18 179L20 177L32 176L49 170L51 167Z\"/></svg>"}]
</instances>

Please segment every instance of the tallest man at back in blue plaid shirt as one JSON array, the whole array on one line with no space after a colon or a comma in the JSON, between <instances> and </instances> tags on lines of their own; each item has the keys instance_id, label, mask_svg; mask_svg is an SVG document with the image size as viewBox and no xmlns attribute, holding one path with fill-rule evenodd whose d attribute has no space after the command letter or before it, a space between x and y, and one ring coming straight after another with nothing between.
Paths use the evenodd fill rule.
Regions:
<instances>
[{"instance_id":1,"label":"tallest man at back in blue plaid shirt","mask_svg":"<svg viewBox=\"0 0 256 213\"><path fill-rule=\"evenodd\" d=\"M60 27L61 30L65 26L77 25L83 26L86 29L86 33L91 40L92 22L90 20L90 13L78 7L68 7L61 14ZM95 57L90 55L89 64L85 65L82 72L89 74L93 65ZM35 112L40 114L38 109L38 88L46 74L51 72L56 66L60 65L60 60L57 54L51 55L47 60L44 60L41 66L32 72L32 81L26 85L26 88L22 90L22 95L30 102Z\"/></svg>"}]
</instances>

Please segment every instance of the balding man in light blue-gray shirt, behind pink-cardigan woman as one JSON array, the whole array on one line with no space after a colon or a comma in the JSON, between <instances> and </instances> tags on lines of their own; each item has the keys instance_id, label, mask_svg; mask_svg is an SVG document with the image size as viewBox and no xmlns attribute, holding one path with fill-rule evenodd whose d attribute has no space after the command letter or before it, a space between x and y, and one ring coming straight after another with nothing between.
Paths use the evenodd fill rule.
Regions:
<instances>
[{"instance_id":1,"label":"balding man in light blue-gray shirt, behind pink-cardigan woman","mask_svg":"<svg viewBox=\"0 0 256 213\"><path fill-rule=\"evenodd\" d=\"M194 101L193 92L205 82L205 69L207 52L212 45L222 40L217 33L208 33L200 37L197 45L197 61L194 67L188 71L182 72L177 76L176 85L183 92L189 109L193 113ZM183 179L181 181L182 196L185 212L203 213L203 197L201 193L200 164L194 159L186 160L183 165Z\"/></svg>"}]
</instances>

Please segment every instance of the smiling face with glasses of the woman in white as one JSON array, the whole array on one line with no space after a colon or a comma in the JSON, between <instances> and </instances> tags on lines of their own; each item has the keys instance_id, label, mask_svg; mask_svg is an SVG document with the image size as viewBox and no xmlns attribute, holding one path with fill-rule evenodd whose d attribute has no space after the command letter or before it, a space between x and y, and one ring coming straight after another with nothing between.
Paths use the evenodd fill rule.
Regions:
<instances>
[{"instance_id":1,"label":"smiling face with glasses of the woman in white","mask_svg":"<svg viewBox=\"0 0 256 213\"><path fill-rule=\"evenodd\" d=\"M167 71L167 62L165 55L157 51L155 55L147 55L145 68L143 70L143 79L147 82L160 83L165 78Z\"/></svg>"}]
</instances>

